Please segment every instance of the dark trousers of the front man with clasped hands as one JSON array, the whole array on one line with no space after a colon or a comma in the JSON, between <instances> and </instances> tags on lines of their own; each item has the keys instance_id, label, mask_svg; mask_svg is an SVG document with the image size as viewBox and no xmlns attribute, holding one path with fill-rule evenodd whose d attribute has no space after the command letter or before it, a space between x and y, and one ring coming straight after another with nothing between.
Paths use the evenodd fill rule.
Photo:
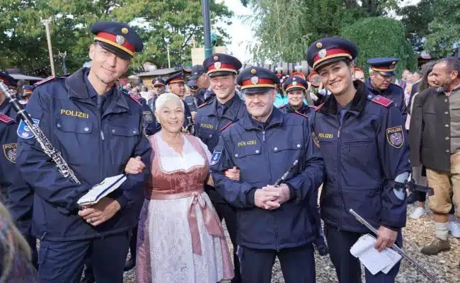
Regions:
<instances>
[{"instance_id":1,"label":"dark trousers of the front man with clasped hands","mask_svg":"<svg viewBox=\"0 0 460 283\"><path fill-rule=\"evenodd\" d=\"M316 282L314 248L311 243L280 250L238 247L243 283L270 283L275 257L280 260L286 283Z\"/></svg>"}]
</instances>

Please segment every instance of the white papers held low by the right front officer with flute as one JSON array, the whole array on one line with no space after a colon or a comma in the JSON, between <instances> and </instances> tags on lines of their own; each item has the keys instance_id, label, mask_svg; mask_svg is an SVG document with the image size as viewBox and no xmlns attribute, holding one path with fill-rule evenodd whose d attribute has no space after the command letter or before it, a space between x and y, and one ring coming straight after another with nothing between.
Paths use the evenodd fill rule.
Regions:
<instances>
[{"instance_id":1,"label":"white papers held low by the right front officer with flute","mask_svg":"<svg viewBox=\"0 0 460 283\"><path fill-rule=\"evenodd\" d=\"M355 245L350 248L350 253L359 258L361 263L372 273L376 275L378 272L387 273L393 268L396 263L401 260L401 255L394 250L386 248L380 253L374 248L376 238L369 234L361 236Z\"/></svg>"}]
</instances>

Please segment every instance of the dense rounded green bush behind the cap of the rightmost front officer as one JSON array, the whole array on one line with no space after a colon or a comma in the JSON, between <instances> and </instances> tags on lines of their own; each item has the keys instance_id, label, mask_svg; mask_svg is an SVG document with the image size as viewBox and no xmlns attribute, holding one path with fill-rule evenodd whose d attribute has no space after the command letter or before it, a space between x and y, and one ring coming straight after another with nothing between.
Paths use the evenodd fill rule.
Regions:
<instances>
[{"instance_id":1,"label":"dense rounded green bush behind the cap of the rightmost front officer","mask_svg":"<svg viewBox=\"0 0 460 283\"><path fill-rule=\"evenodd\" d=\"M343 28L340 33L360 47L358 67L369 69L367 59L372 57L397 57L400 59L396 69L398 75L404 69L415 70L417 67L417 57L405 34L402 23L383 17L364 18Z\"/></svg>"}]
</instances>

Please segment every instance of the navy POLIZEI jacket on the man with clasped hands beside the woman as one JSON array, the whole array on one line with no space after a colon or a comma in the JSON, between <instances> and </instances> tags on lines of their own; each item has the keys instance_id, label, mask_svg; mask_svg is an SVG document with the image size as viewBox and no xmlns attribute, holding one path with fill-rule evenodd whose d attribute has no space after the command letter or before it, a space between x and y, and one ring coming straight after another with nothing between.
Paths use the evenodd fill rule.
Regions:
<instances>
[{"instance_id":1,"label":"navy POLIZEI jacket on the man with clasped hands beside the woman","mask_svg":"<svg viewBox=\"0 0 460 283\"><path fill-rule=\"evenodd\" d=\"M272 211L255 207L255 190L275 184L295 160L299 163L284 182L291 200ZM233 166L241 170L239 181L223 174ZM316 238L309 200L318 196L324 164L305 117L283 114L274 107L263 128L246 115L222 132L211 169L216 190L237 210L238 245L275 250Z\"/></svg>"}]
</instances>

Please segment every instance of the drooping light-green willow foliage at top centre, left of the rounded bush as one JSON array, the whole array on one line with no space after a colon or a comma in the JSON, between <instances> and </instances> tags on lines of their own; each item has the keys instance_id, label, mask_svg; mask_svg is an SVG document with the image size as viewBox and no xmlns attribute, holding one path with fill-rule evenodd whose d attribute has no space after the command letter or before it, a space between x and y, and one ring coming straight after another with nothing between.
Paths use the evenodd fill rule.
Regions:
<instances>
[{"instance_id":1,"label":"drooping light-green willow foliage at top centre, left of the rounded bush","mask_svg":"<svg viewBox=\"0 0 460 283\"><path fill-rule=\"evenodd\" d=\"M364 16L347 8L343 0L253 0L254 14L246 21L255 26L255 62L299 62L311 42L338 35L340 28Z\"/></svg>"}]
</instances>

